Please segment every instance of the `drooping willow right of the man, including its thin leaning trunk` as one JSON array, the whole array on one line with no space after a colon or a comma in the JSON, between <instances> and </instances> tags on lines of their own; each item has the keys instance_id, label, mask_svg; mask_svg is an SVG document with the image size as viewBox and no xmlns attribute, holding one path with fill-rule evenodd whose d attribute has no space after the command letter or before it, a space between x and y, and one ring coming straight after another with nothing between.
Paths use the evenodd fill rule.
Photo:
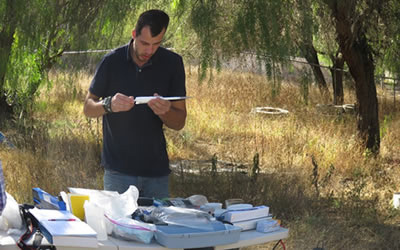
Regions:
<instances>
[{"instance_id":1,"label":"drooping willow right of the man, including its thin leaning trunk","mask_svg":"<svg viewBox=\"0 0 400 250\"><path fill-rule=\"evenodd\" d=\"M191 13L191 27L201 44L201 76L204 77L213 63L218 66L221 58L245 59L255 55L272 78L272 89L276 90L280 66L289 56L300 55L309 62L321 93L328 92L313 44L318 26L312 10L314 1L174 2L185 5Z\"/></svg>"}]
</instances>

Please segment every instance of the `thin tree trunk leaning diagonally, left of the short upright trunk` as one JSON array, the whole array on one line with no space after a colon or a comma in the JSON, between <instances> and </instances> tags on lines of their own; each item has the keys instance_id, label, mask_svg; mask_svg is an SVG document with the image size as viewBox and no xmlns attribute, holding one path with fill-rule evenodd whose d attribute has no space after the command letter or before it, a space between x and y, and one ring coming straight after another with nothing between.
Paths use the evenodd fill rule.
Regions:
<instances>
[{"instance_id":1,"label":"thin tree trunk leaning diagonally, left of the short upright trunk","mask_svg":"<svg viewBox=\"0 0 400 250\"><path fill-rule=\"evenodd\" d=\"M328 86L326 84L324 74L322 74L321 67L319 67L317 51L312 44L303 44L301 49L304 57L312 68L315 82L317 83L321 94L326 94L328 92Z\"/></svg>"}]
</instances>

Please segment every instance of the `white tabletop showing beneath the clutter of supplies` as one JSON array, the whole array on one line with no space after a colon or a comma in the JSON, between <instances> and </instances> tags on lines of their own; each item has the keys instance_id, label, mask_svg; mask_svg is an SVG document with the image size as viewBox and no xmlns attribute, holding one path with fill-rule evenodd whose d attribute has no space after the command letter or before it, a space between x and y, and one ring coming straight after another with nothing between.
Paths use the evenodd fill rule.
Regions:
<instances>
[{"instance_id":1,"label":"white tabletop showing beneath the clutter of supplies","mask_svg":"<svg viewBox=\"0 0 400 250\"><path fill-rule=\"evenodd\" d=\"M278 241L285 239L289 236L289 230L286 228L280 228L278 231L271 233L259 233L255 230L244 231L240 233L240 239L236 243L228 245L215 246L215 250L231 249L246 247L252 245L263 244L267 242ZM0 231L0 248L3 250L18 250L16 246L16 241L18 236L9 236L5 232ZM83 250L85 248L77 247L57 247L57 250ZM93 249L93 248L88 248ZM150 244L139 243L135 241L125 241L121 239L116 239L113 237L108 237L106 241L99 241L99 250L166 250L169 248L159 245L154 240ZM178 248L180 250L180 248Z\"/></svg>"}]
</instances>

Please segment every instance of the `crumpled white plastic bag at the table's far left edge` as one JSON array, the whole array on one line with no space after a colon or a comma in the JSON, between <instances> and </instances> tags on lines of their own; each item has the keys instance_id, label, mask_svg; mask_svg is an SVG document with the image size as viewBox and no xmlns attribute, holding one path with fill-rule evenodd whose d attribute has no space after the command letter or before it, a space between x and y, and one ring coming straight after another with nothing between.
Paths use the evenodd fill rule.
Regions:
<instances>
[{"instance_id":1,"label":"crumpled white plastic bag at the table's far left edge","mask_svg":"<svg viewBox=\"0 0 400 250\"><path fill-rule=\"evenodd\" d=\"M0 230L8 231L9 229L22 229L24 226L19 212L19 205L17 201L6 192L7 203L0 216Z\"/></svg>"}]
</instances>

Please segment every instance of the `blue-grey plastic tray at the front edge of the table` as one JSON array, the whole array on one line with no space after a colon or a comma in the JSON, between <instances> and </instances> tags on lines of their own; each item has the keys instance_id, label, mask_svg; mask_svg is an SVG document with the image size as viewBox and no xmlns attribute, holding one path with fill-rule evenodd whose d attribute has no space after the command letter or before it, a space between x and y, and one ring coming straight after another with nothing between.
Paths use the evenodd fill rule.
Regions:
<instances>
[{"instance_id":1,"label":"blue-grey plastic tray at the front edge of the table","mask_svg":"<svg viewBox=\"0 0 400 250\"><path fill-rule=\"evenodd\" d=\"M183 226L157 226L155 238L168 248L198 248L231 244L239 241L240 227L229 224L214 226L214 230L201 230Z\"/></svg>"}]
</instances>

